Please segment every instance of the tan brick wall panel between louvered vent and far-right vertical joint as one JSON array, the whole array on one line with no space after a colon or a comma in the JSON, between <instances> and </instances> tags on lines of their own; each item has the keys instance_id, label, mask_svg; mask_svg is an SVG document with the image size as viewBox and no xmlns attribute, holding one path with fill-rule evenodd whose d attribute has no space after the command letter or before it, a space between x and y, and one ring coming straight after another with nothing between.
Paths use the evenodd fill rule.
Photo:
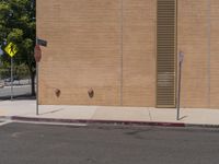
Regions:
<instances>
[{"instance_id":1,"label":"tan brick wall panel between louvered vent and far-right vertical joint","mask_svg":"<svg viewBox=\"0 0 219 164\"><path fill-rule=\"evenodd\" d=\"M178 0L177 49L185 54L182 106L208 107L207 0Z\"/></svg>"}]
</instances>

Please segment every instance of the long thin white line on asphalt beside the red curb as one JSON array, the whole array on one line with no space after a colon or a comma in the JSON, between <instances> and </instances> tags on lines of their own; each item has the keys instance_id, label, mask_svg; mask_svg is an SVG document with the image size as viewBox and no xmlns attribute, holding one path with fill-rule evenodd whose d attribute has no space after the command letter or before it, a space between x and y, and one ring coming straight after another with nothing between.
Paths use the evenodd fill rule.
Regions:
<instances>
[{"instance_id":1,"label":"long thin white line on asphalt beside the red curb","mask_svg":"<svg viewBox=\"0 0 219 164\"><path fill-rule=\"evenodd\" d=\"M87 124L67 124L67 122L46 122L46 121L24 121L13 120L13 122L34 124L34 125L51 125L51 126L73 126L73 127L87 127Z\"/></svg>"}]
</instances>

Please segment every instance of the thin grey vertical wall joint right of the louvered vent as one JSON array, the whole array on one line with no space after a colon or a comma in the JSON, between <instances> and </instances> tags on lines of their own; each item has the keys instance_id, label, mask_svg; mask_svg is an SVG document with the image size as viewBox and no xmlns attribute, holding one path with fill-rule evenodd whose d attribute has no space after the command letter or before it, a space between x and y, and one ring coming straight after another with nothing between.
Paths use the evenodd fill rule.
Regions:
<instances>
[{"instance_id":1,"label":"thin grey vertical wall joint right of the louvered vent","mask_svg":"<svg viewBox=\"0 0 219 164\"><path fill-rule=\"evenodd\" d=\"M211 13L211 0L208 0L208 2L207 2L207 62L208 62L208 67L207 67L207 85L208 85L208 97L207 97L207 101L208 101L208 107L210 107L210 80L211 80L211 78L210 78L210 73L211 73L211 71L210 71L210 60L211 60L211 58L210 58L210 56L211 56L211 52L210 52L210 48L211 48L211 44L210 44L210 42L211 42L211 15L210 15L210 13Z\"/></svg>"}]
</instances>

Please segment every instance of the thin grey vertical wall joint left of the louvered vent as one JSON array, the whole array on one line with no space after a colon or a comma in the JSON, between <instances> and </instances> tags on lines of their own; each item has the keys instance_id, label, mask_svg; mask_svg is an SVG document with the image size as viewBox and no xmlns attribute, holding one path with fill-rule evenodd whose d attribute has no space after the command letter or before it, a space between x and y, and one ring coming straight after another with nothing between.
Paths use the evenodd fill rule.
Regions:
<instances>
[{"instance_id":1,"label":"thin grey vertical wall joint left of the louvered vent","mask_svg":"<svg viewBox=\"0 0 219 164\"><path fill-rule=\"evenodd\" d=\"M123 0L120 0L120 106L123 106Z\"/></svg>"}]
</instances>

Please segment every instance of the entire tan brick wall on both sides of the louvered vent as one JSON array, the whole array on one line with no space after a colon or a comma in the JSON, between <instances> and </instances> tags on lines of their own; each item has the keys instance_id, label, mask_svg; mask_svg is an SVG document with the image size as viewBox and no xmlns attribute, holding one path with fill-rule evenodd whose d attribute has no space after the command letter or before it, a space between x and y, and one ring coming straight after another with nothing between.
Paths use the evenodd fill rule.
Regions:
<instances>
[{"instance_id":1,"label":"entire tan brick wall on both sides of the louvered vent","mask_svg":"<svg viewBox=\"0 0 219 164\"><path fill-rule=\"evenodd\" d=\"M177 2L182 106L218 108L219 1L210 25L209 0ZM37 0L39 103L155 106L155 0Z\"/></svg>"}]
</instances>

